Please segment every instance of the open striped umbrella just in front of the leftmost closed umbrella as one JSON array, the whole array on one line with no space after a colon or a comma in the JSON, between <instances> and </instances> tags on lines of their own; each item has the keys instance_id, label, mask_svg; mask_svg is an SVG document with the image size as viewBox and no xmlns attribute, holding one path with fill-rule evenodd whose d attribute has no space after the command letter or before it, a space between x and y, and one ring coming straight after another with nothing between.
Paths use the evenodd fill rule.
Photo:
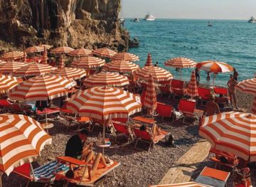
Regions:
<instances>
[{"instance_id":1,"label":"open striped umbrella just in front of the leftmost closed umbrella","mask_svg":"<svg viewBox=\"0 0 256 187\"><path fill-rule=\"evenodd\" d=\"M21 77L40 76L49 73L51 70L53 70L53 66L40 63L30 63L16 70L13 75Z\"/></svg>"}]
</instances>

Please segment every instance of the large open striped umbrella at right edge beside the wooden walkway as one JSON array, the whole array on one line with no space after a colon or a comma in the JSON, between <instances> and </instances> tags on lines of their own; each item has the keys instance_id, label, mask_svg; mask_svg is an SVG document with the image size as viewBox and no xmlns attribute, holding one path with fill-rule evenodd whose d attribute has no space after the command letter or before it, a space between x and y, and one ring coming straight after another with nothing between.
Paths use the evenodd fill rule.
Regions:
<instances>
[{"instance_id":1,"label":"large open striped umbrella at right edge beside the wooden walkway","mask_svg":"<svg viewBox=\"0 0 256 187\"><path fill-rule=\"evenodd\" d=\"M220 151L256 161L256 115L223 112L203 118L199 134Z\"/></svg>"}]
</instances>

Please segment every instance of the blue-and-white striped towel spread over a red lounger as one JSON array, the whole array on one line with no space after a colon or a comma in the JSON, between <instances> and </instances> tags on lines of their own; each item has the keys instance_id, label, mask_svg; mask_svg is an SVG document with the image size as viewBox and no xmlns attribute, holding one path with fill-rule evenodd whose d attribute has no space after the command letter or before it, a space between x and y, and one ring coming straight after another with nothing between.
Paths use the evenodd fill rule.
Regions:
<instances>
[{"instance_id":1,"label":"blue-and-white striped towel spread over a red lounger","mask_svg":"<svg viewBox=\"0 0 256 187\"><path fill-rule=\"evenodd\" d=\"M40 166L37 169L34 169L34 174L35 174L35 181L40 181L40 180L50 180L52 181L53 178L55 177L55 169L57 167L58 161L51 161L46 165ZM68 171L69 167L65 164L59 164L58 165L58 169L56 171L56 173L60 172L60 171Z\"/></svg>"}]
</instances>

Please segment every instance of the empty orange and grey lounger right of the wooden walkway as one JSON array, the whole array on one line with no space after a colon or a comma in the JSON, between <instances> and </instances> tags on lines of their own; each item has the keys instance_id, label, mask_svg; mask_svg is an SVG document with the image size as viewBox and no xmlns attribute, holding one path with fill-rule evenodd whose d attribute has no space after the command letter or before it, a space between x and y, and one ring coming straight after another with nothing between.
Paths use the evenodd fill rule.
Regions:
<instances>
[{"instance_id":1,"label":"empty orange and grey lounger right of the wooden walkway","mask_svg":"<svg viewBox=\"0 0 256 187\"><path fill-rule=\"evenodd\" d=\"M230 172L220 171L206 166L196 178L196 182L214 187L225 187L229 176Z\"/></svg>"}]
</instances>

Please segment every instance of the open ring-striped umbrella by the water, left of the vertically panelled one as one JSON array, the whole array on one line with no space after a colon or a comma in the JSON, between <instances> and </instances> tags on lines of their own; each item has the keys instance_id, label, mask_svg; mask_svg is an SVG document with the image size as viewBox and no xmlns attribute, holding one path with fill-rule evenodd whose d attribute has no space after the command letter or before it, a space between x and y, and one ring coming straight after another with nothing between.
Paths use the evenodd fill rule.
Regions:
<instances>
[{"instance_id":1,"label":"open ring-striped umbrella by the water, left of the vertically panelled one","mask_svg":"<svg viewBox=\"0 0 256 187\"><path fill-rule=\"evenodd\" d=\"M189 58L178 57L167 60L164 65L173 68L193 68L196 66L196 63Z\"/></svg>"}]
</instances>

